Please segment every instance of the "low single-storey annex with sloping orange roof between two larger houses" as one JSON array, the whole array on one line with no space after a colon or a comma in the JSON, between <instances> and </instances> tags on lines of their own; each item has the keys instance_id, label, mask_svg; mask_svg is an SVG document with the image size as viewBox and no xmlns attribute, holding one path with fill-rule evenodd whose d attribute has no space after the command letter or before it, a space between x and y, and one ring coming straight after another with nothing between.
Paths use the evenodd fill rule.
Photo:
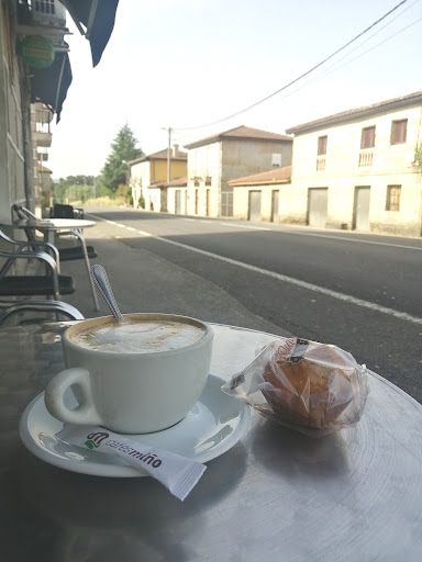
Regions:
<instances>
[{"instance_id":1,"label":"low single-storey annex with sloping orange roof between two larger houses","mask_svg":"<svg viewBox=\"0 0 422 562\"><path fill-rule=\"evenodd\" d=\"M291 166L229 181L233 188L233 217L278 223L280 191L290 189Z\"/></svg>"}]
</instances>

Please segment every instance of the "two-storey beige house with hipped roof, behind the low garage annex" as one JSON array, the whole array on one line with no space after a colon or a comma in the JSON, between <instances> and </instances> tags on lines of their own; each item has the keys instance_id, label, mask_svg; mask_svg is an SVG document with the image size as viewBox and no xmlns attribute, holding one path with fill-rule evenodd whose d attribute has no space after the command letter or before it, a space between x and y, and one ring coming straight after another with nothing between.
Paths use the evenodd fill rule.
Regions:
<instances>
[{"instance_id":1,"label":"two-storey beige house with hipped roof, behind the low garage annex","mask_svg":"<svg viewBox=\"0 0 422 562\"><path fill-rule=\"evenodd\" d=\"M291 146L290 136L246 126L186 145L188 184L181 213L233 216L230 180L289 165Z\"/></svg>"}]
</instances>

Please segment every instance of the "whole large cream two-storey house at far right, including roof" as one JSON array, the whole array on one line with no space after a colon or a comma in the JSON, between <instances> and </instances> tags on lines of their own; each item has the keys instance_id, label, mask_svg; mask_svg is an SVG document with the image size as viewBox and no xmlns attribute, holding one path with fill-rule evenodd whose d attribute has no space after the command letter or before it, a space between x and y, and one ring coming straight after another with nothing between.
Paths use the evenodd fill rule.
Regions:
<instances>
[{"instance_id":1,"label":"whole large cream two-storey house at far right, including roof","mask_svg":"<svg viewBox=\"0 0 422 562\"><path fill-rule=\"evenodd\" d=\"M291 127L279 221L421 236L422 91Z\"/></svg>"}]
</instances>

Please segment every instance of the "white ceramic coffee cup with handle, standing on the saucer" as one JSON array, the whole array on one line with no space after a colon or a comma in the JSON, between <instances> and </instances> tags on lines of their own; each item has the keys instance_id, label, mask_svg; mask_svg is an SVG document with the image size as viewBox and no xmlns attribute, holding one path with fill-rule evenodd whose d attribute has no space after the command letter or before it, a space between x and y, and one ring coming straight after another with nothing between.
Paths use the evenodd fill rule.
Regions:
<instances>
[{"instance_id":1,"label":"white ceramic coffee cup with handle, standing on the saucer","mask_svg":"<svg viewBox=\"0 0 422 562\"><path fill-rule=\"evenodd\" d=\"M181 337L170 349L158 337L140 350L133 349L136 338L133 342L123 338L121 346L118 342L104 350L104 346L85 347L84 338L89 339L99 328L119 326L113 316L71 326L62 339L67 369L49 381L44 395L54 417L69 424L100 425L116 432L146 434L177 424L198 401L211 363L212 328L195 318L168 314L130 314L123 318L141 329L147 323L157 323L158 331L171 325ZM199 330L195 341L185 337L192 330ZM70 386L79 403L76 409L65 404Z\"/></svg>"}]
</instances>

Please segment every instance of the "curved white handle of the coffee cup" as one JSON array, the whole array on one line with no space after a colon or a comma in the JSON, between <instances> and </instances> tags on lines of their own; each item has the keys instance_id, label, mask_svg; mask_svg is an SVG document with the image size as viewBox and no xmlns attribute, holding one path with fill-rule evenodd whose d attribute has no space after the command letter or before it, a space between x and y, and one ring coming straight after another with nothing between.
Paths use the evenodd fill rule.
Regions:
<instances>
[{"instance_id":1,"label":"curved white handle of the coffee cup","mask_svg":"<svg viewBox=\"0 0 422 562\"><path fill-rule=\"evenodd\" d=\"M65 405L65 392L75 386L79 406L70 409ZM102 425L102 420L93 405L89 371L81 367L65 369L57 373L47 384L44 402L52 416L60 422L76 425Z\"/></svg>"}]
</instances>

